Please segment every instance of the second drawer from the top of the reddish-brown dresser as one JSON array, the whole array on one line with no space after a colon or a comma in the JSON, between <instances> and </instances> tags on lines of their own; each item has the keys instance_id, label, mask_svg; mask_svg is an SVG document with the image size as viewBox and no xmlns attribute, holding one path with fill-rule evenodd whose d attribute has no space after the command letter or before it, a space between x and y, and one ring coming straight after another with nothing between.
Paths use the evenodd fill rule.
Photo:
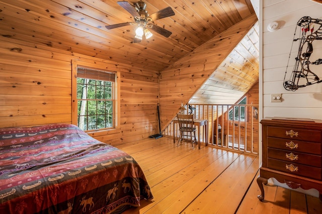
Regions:
<instances>
[{"instance_id":1,"label":"second drawer from the top of the reddish-brown dresser","mask_svg":"<svg viewBox=\"0 0 322 214\"><path fill-rule=\"evenodd\" d=\"M321 143L267 137L267 146L271 148L321 155Z\"/></svg>"}]
</instances>

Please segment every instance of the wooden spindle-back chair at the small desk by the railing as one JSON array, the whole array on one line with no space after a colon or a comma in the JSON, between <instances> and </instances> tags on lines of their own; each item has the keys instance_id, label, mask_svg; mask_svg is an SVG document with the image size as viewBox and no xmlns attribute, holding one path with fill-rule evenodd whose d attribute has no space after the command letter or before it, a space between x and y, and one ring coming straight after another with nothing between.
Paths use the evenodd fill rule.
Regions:
<instances>
[{"instance_id":1,"label":"wooden spindle-back chair at the small desk by the railing","mask_svg":"<svg viewBox=\"0 0 322 214\"><path fill-rule=\"evenodd\" d=\"M178 146L181 140L186 139L191 142L192 148L193 144L197 143L196 140L196 128L193 125L193 114L177 114L178 123L179 123L179 140L178 140ZM188 134L190 133L190 134ZM195 137L195 139L192 139L192 133ZM185 136L185 137L184 137Z\"/></svg>"}]
</instances>

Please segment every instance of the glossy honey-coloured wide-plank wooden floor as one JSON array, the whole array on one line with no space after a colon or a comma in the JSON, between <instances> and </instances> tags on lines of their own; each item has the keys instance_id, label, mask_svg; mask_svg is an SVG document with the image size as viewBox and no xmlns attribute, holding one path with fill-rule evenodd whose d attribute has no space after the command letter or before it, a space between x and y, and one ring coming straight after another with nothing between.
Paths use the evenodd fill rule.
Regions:
<instances>
[{"instance_id":1,"label":"glossy honey-coloured wide-plank wooden floor","mask_svg":"<svg viewBox=\"0 0 322 214\"><path fill-rule=\"evenodd\" d=\"M153 200L141 200L129 213L322 213L322 202L275 185L260 202L257 156L188 141L144 139L116 146L134 157L144 171Z\"/></svg>"}]
</instances>

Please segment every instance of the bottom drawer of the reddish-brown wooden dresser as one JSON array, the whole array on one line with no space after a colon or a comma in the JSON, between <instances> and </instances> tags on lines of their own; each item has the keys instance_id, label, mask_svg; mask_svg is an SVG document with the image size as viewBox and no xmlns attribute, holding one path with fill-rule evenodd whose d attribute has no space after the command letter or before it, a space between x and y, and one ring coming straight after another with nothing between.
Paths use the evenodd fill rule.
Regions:
<instances>
[{"instance_id":1,"label":"bottom drawer of the reddish-brown wooden dresser","mask_svg":"<svg viewBox=\"0 0 322 214\"><path fill-rule=\"evenodd\" d=\"M283 171L289 174L321 180L321 168L306 166L299 163L292 163L283 160L268 158L268 168ZM293 167L291 166L293 164ZM286 168L289 167L291 170ZM294 170L297 169L297 170Z\"/></svg>"}]
</instances>

